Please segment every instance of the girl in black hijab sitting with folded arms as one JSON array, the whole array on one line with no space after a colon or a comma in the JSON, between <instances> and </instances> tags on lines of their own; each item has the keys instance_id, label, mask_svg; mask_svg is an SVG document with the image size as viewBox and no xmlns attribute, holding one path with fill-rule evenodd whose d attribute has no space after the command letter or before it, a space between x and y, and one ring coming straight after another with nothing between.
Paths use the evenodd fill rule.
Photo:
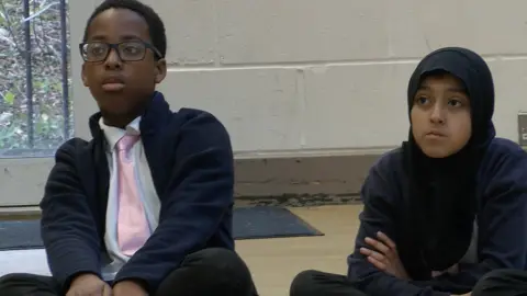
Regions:
<instances>
[{"instance_id":1,"label":"girl in black hijab sitting with folded arms","mask_svg":"<svg viewBox=\"0 0 527 296\"><path fill-rule=\"evenodd\" d=\"M408 140L365 181L348 276L306 271L291 295L476 296L485 273L527 267L527 158L495 138L485 61L435 50L407 94Z\"/></svg>"}]
</instances>

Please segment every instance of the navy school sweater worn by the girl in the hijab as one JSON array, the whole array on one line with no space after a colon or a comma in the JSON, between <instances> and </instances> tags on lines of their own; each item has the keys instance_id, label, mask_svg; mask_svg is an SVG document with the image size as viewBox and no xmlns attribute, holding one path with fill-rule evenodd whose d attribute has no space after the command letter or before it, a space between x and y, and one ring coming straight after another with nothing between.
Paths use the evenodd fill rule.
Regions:
<instances>
[{"instance_id":1,"label":"navy school sweater worn by the girl in the hijab","mask_svg":"<svg viewBox=\"0 0 527 296\"><path fill-rule=\"evenodd\" d=\"M402 150L384 155L370 170L361 190L365 208L355 251L348 257L348 277L369 296L447 296L472 291L486 272L494 269L527 269L527 155L515 143L495 138L478 172L476 264L463 265L458 274L429 281L403 281L380 272L359 252L366 237L383 231L397 242L408 194ZM442 250L448 252L448 249ZM401 258L403 265L415 257ZM426 277L426 275L424 275Z\"/></svg>"}]
</instances>

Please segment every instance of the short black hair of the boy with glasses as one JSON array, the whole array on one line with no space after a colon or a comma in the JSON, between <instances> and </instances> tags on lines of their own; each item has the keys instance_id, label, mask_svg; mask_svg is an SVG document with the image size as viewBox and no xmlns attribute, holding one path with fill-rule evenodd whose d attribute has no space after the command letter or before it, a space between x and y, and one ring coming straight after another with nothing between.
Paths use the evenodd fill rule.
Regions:
<instances>
[{"instance_id":1,"label":"short black hair of the boy with glasses","mask_svg":"<svg viewBox=\"0 0 527 296\"><path fill-rule=\"evenodd\" d=\"M85 27L85 36L82 42L86 42L88 38L88 29L93 21L93 19L100 13L109 9L127 9L131 10L145 19L148 24L148 32L150 34L153 45L161 54L161 58L165 58L167 54L167 35L165 32L165 24L161 21L161 18L148 5L137 1L137 0L105 0L99 7L96 8L93 13L91 13L88 22Z\"/></svg>"}]
</instances>

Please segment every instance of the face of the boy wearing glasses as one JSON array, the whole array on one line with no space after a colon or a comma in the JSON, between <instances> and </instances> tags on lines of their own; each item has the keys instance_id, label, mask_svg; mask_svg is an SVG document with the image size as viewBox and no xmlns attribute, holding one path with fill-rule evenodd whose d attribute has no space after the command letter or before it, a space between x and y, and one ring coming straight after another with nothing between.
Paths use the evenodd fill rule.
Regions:
<instances>
[{"instance_id":1,"label":"face of the boy wearing glasses","mask_svg":"<svg viewBox=\"0 0 527 296\"><path fill-rule=\"evenodd\" d=\"M103 44L123 42L136 43L121 46L119 53L115 48L110 49L103 59ZM137 116L152 98L156 84L165 79L165 59L156 59L156 54L148 47L144 55L137 52L142 42L152 45L148 24L127 9L103 11L89 25L86 43L90 45L85 47L85 53L92 60L96 60L93 57L102 60L83 62L82 82L90 89L103 116Z\"/></svg>"}]
</instances>

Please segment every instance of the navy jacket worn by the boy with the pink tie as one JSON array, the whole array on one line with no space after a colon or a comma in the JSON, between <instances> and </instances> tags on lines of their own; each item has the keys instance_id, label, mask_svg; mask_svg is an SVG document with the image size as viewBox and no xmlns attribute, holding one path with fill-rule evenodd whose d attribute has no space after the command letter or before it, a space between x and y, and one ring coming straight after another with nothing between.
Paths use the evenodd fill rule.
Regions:
<instances>
[{"instance_id":1,"label":"navy jacket worn by the boy with the pink tie","mask_svg":"<svg viewBox=\"0 0 527 296\"><path fill-rule=\"evenodd\" d=\"M41 202L42 239L64 291L79 273L101 275L110 171L100 116L90 118L92 140L74 138L59 147ZM213 115L171 112L158 92L139 129L161 202L159 226L114 283L139 280L153 293L187 254L234 250L234 160L229 136Z\"/></svg>"}]
</instances>

